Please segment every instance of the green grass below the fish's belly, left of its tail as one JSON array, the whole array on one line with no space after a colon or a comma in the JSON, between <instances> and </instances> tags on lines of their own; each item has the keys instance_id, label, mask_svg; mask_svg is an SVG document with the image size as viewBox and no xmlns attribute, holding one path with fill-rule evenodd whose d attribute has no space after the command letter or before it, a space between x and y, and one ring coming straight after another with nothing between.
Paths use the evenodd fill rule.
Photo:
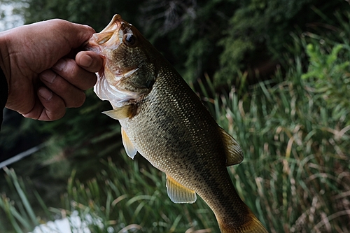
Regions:
<instances>
[{"instance_id":1,"label":"green grass below the fish's belly, left of its tail","mask_svg":"<svg viewBox=\"0 0 350 233\"><path fill-rule=\"evenodd\" d=\"M99 218L104 227L91 225L92 232L105 232L107 228L110 232L212 231L209 229L216 224L215 217L202 200L194 205L173 204L160 171L139 167L139 162L125 153L123 157L123 167L109 160L106 170L85 184L72 176L62 199L65 209L78 210L83 219L87 214Z\"/></svg>"}]
</instances>

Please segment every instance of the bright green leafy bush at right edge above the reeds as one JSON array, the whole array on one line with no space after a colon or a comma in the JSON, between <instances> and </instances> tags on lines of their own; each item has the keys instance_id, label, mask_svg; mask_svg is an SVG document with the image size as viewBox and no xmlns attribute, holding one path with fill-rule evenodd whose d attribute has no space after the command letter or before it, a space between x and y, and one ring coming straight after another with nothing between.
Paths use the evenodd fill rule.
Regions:
<instances>
[{"instance_id":1,"label":"bright green leafy bush at right edge above the reeds","mask_svg":"<svg viewBox=\"0 0 350 233\"><path fill-rule=\"evenodd\" d=\"M347 120L348 125L350 119L345 117L350 113L349 48L349 45L339 44L327 53L320 45L307 45L309 71L302 75L312 80L315 92L332 109L332 118L341 122Z\"/></svg>"}]
</instances>

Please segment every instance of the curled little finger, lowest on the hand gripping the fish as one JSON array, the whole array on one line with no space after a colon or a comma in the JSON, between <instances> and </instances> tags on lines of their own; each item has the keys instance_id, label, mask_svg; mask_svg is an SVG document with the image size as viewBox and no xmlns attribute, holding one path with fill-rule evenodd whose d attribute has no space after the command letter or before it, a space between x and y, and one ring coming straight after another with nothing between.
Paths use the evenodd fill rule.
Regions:
<instances>
[{"instance_id":1,"label":"curled little finger, lowest on the hand gripping the fish","mask_svg":"<svg viewBox=\"0 0 350 233\"><path fill-rule=\"evenodd\" d=\"M25 118L36 120L58 120L66 113L64 101L46 87L38 88L38 100L29 113L22 114Z\"/></svg>"}]
</instances>

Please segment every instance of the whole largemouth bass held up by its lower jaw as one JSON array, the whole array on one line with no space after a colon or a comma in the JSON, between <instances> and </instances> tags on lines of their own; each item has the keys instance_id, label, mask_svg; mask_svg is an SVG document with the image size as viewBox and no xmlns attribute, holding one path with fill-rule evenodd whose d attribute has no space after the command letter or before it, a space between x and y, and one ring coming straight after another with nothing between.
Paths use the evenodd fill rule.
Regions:
<instances>
[{"instance_id":1,"label":"whole largemouth bass held up by its lower jaw","mask_svg":"<svg viewBox=\"0 0 350 233\"><path fill-rule=\"evenodd\" d=\"M104 59L94 92L113 107L125 151L139 152L167 177L174 203L202 197L223 233L267 232L237 194L228 166L239 164L239 143L218 126L200 98L132 24L114 15L88 50Z\"/></svg>"}]
</instances>

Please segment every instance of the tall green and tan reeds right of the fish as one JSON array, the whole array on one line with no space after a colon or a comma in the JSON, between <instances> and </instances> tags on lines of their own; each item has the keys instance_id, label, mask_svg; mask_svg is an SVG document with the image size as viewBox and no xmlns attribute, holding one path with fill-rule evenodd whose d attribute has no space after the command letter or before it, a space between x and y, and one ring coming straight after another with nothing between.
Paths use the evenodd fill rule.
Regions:
<instances>
[{"instance_id":1,"label":"tall green and tan reeds right of the fish","mask_svg":"<svg viewBox=\"0 0 350 233\"><path fill-rule=\"evenodd\" d=\"M349 232L349 115L334 118L301 70L296 62L246 99L216 98L219 125L245 155L232 178L270 232Z\"/></svg>"}]
</instances>

